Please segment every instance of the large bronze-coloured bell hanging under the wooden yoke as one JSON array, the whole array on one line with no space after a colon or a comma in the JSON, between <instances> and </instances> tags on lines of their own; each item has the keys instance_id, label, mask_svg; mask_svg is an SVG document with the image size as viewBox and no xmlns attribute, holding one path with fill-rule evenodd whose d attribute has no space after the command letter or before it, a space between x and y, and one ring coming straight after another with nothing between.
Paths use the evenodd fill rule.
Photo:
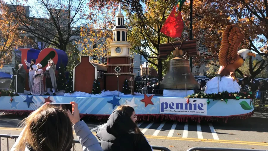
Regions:
<instances>
[{"instance_id":1,"label":"large bronze-coloured bell hanging under the wooden yoke","mask_svg":"<svg viewBox=\"0 0 268 151\"><path fill-rule=\"evenodd\" d=\"M190 62L182 57L182 50L174 50L175 58L168 61L168 72L160 84L160 89L166 90L198 90L199 83L191 73ZM188 74L185 75L183 74ZM187 81L186 81L187 80Z\"/></svg>"}]
</instances>

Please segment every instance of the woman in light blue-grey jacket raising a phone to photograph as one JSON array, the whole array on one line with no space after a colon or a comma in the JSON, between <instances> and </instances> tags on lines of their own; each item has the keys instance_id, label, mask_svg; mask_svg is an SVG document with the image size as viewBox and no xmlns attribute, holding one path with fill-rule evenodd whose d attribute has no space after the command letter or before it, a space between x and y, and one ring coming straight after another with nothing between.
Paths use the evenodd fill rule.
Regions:
<instances>
[{"instance_id":1,"label":"woman in light blue-grey jacket raising a phone to photograph","mask_svg":"<svg viewBox=\"0 0 268 151\"><path fill-rule=\"evenodd\" d=\"M84 150L102 148L84 121L80 121L78 106L73 113L45 103L23 120L25 126L11 151L70 151L74 146L74 131Z\"/></svg>"}]
</instances>

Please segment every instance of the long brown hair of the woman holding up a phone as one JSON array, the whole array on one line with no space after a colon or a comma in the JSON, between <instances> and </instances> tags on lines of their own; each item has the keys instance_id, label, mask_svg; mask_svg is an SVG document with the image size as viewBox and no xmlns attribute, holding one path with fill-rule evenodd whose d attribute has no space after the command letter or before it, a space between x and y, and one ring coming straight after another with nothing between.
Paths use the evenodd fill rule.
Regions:
<instances>
[{"instance_id":1,"label":"long brown hair of the woman holding up a phone","mask_svg":"<svg viewBox=\"0 0 268 151\"><path fill-rule=\"evenodd\" d=\"M16 150L31 147L35 151L69 151L74 147L71 121L66 110L47 105L23 121L25 130Z\"/></svg>"}]
</instances>

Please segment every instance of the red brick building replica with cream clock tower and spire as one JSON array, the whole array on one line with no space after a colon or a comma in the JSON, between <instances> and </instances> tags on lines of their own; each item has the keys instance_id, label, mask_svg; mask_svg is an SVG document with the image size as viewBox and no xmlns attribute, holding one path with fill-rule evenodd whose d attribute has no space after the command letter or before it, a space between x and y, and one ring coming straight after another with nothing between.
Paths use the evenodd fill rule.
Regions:
<instances>
[{"instance_id":1,"label":"red brick building replica with cream clock tower and spire","mask_svg":"<svg viewBox=\"0 0 268 151\"><path fill-rule=\"evenodd\" d=\"M116 27L113 28L113 41L110 42L111 56L107 56L107 64L90 62L90 56L81 56L80 63L74 67L74 91L91 93L94 79L98 79L101 90L123 90L127 78L130 88L134 86L133 59L130 57L131 45L127 41L127 28L124 26L124 15L116 16ZM117 76L119 76L117 78ZM133 89L132 89L133 93Z\"/></svg>"}]
</instances>

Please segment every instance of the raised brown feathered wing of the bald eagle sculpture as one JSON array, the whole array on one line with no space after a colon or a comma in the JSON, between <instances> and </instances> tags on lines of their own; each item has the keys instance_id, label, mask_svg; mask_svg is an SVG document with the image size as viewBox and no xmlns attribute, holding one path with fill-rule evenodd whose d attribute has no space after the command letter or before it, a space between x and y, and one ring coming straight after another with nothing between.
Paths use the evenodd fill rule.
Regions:
<instances>
[{"instance_id":1,"label":"raised brown feathered wing of the bald eagle sculpture","mask_svg":"<svg viewBox=\"0 0 268 151\"><path fill-rule=\"evenodd\" d=\"M223 31L222 42L219 51L219 64L226 67L237 59L237 48L244 39L244 33L235 24L227 25Z\"/></svg>"}]
</instances>

